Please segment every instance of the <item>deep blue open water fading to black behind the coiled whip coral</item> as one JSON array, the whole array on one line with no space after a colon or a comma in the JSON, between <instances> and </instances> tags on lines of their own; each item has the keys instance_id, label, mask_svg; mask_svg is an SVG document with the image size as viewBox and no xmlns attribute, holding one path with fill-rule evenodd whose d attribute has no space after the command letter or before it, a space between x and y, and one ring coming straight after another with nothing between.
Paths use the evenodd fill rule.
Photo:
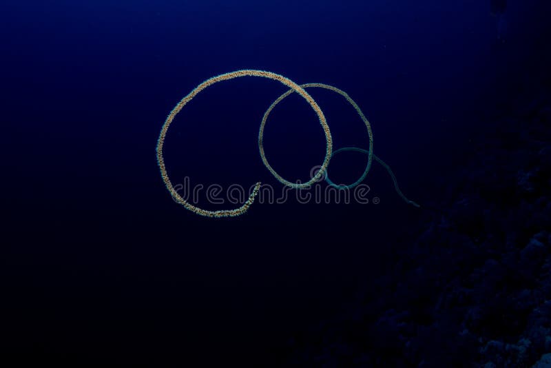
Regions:
<instances>
[{"instance_id":1,"label":"deep blue open water fading to black behind the coiled whip coral","mask_svg":"<svg viewBox=\"0 0 551 368\"><path fill-rule=\"evenodd\" d=\"M404 194L437 203L441 178L487 133L486 119L549 63L541 3L509 1L498 39L489 1L3 1L8 349L53 360L278 362L294 334L391 267L393 244L422 231L411 225L422 211L374 163L366 183L379 205L289 201L201 218L160 179L155 146L168 112L201 81L244 68L335 85L366 113L375 154ZM174 181L280 189L256 138L284 91L248 78L202 92L169 130ZM366 147L346 101L309 92L335 149ZM288 100L264 142L275 170L304 181L322 163L324 137L308 105ZM365 160L338 156L333 180L355 181Z\"/></svg>"}]
</instances>

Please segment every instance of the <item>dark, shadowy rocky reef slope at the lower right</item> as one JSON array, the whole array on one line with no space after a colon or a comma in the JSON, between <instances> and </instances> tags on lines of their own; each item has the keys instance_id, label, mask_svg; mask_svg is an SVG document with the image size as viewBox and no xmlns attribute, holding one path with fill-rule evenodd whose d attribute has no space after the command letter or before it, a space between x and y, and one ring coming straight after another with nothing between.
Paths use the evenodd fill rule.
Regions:
<instances>
[{"instance_id":1,"label":"dark, shadowy rocky reef slope at the lower right","mask_svg":"<svg viewBox=\"0 0 551 368\"><path fill-rule=\"evenodd\" d=\"M549 90L518 92L500 110L415 224L423 234L339 317L295 336L290 362L551 366Z\"/></svg>"}]
</instances>

